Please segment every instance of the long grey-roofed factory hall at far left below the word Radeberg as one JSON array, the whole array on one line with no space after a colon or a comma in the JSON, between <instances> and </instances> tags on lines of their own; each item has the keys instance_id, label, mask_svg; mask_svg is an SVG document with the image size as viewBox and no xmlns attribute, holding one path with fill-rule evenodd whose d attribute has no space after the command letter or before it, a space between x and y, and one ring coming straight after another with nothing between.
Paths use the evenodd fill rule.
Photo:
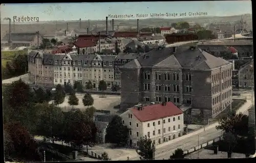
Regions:
<instances>
[{"instance_id":1,"label":"long grey-roofed factory hall at far left below the word Radeberg","mask_svg":"<svg viewBox=\"0 0 256 163\"><path fill-rule=\"evenodd\" d=\"M10 34L7 33L2 39L2 46L9 46ZM13 48L19 46L39 46L42 42L42 36L37 32L15 32L11 33L11 44Z\"/></svg>"}]
</instances>

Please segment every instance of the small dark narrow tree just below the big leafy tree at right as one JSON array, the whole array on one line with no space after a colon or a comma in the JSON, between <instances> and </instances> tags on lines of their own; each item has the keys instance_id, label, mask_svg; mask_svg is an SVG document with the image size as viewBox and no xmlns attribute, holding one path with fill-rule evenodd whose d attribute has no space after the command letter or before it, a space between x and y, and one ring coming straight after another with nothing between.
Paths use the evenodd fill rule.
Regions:
<instances>
[{"instance_id":1,"label":"small dark narrow tree just below the big leafy tree at right","mask_svg":"<svg viewBox=\"0 0 256 163\"><path fill-rule=\"evenodd\" d=\"M227 144L228 147L228 158L231 157L229 153L231 154L233 152L234 147L236 147L237 145L237 139L237 136L230 131L223 133L223 141Z\"/></svg>"}]
</instances>

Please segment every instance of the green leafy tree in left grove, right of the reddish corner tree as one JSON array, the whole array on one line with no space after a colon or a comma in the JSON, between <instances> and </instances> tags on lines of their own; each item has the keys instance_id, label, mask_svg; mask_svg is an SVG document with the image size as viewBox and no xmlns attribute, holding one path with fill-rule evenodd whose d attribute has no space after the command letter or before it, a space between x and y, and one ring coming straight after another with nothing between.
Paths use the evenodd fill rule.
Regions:
<instances>
[{"instance_id":1,"label":"green leafy tree in left grove, right of the reddish corner tree","mask_svg":"<svg viewBox=\"0 0 256 163\"><path fill-rule=\"evenodd\" d=\"M53 104L44 103L38 106L42 111L37 123L37 134L51 138L54 143L60 135L59 126L63 119L63 113L59 107Z\"/></svg>"}]
</instances>

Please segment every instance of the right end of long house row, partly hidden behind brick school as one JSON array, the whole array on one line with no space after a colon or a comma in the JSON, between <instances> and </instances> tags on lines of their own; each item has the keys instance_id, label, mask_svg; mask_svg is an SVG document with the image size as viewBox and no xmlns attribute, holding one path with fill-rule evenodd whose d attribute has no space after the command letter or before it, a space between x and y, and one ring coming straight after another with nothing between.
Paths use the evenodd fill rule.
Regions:
<instances>
[{"instance_id":1,"label":"right end of long house row, partly hidden behind brick school","mask_svg":"<svg viewBox=\"0 0 256 163\"><path fill-rule=\"evenodd\" d=\"M121 86L121 76L120 76L120 67L124 64L130 62L131 60L137 58L139 53L119 53L115 58L114 63L114 82L115 84Z\"/></svg>"}]
</instances>

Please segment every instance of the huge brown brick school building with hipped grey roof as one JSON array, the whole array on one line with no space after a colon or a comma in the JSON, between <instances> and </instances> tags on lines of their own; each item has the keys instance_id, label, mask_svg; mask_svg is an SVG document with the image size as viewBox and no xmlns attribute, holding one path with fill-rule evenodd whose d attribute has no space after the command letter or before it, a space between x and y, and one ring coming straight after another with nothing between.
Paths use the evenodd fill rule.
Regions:
<instances>
[{"instance_id":1,"label":"huge brown brick school building with hipped grey roof","mask_svg":"<svg viewBox=\"0 0 256 163\"><path fill-rule=\"evenodd\" d=\"M231 107L231 69L232 63L195 46L152 50L120 67L121 108L170 101L215 117Z\"/></svg>"}]
</instances>

